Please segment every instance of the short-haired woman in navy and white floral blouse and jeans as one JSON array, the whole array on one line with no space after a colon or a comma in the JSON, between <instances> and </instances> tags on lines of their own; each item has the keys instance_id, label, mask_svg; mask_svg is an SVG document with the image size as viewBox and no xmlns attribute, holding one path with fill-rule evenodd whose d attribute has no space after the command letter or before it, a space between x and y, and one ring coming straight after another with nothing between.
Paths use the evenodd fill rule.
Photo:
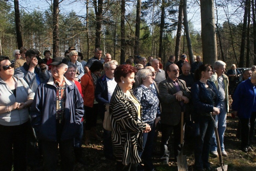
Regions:
<instances>
[{"instance_id":1,"label":"short-haired woman in navy and white floral blouse and jeans","mask_svg":"<svg viewBox=\"0 0 256 171\"><path fill-rule=\"evenodd\" d=\"M150 87L153 84L153 75L149 69L139 70L137 72L137 81L139 87L134 90L135 97L139 100L142 105L143 111L141 120L147 123L151 127L150 132L142 134L142 150L139 150L139 157L144 159L144 169L154 170L152 162L152 150L155 136L155 126L160 121L160 108L159 100L155 94L154 89ZM143 156L142 156L143 153ZM143 170L139 166L139 170Z\"/></svg>"}]
</instances>

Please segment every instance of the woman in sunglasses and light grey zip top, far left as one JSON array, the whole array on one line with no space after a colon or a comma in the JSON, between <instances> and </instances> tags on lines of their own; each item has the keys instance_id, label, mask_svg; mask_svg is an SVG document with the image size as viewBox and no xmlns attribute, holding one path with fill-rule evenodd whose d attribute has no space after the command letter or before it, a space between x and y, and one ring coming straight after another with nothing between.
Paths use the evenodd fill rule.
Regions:
<instances>
[{"instance_id":1,"label":"woman in sunglasses and light grey zip top, far left","mask_svg":"<svg viewBox=\"0 0 256 171\"><path fill-rule=\"evenodd\" d=\"M14 76L9 57L0 56L0 170L12 170L12 163L14 170L26 170L28 107L34 95L24 79Z\"/></svg>"}]
</instances>

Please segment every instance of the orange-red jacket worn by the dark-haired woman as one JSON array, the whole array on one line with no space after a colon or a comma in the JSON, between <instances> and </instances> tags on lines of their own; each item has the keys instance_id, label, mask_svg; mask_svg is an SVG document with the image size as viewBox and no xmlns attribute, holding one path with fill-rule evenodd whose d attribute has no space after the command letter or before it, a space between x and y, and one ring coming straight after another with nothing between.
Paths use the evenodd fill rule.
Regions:
<instances>
[{"instance_id":1,"label":"orange-red jacket worn by the dark-haired woman","mask_svg":"<svg viewBox=\"0 0 256 171\"><path fill-rule=\"evenodd\" d=\"M93 77L91 75L91 71L84 74L81 77L81 87L82 87L82 94L84 95L84 106L93 107L94 103L94 91L95 85L93 83Z\"/></svg>"}]
</instances>

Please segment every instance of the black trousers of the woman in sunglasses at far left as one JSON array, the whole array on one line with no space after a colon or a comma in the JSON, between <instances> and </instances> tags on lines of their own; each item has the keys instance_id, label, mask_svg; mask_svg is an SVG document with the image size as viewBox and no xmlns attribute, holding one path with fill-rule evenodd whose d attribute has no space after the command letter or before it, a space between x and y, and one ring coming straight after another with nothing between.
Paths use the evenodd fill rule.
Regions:
<instances>
[{"instance_id":1,"label":"black trousers of the woman in sunglasses at far left","mask_svg":"<svg viewBox=\"0 0 256 171\"><path fill-rule=\"evenodd\" d=\"M28 122L16 126L0 125L1 171L11 171L12 163L14 171L26 171L27 130Z\"/></svg>"}]
</instances>

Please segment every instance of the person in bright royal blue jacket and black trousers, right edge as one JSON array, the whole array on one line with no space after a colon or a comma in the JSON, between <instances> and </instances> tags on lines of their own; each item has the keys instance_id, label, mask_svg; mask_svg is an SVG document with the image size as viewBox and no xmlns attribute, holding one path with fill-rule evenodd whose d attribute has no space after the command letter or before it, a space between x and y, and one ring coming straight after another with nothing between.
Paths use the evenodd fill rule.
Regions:
<instances>
[{"instance_id":1,"label":"person in bright royal blue jacket and black trousers, right edge","mask_svg":"<svg viewBox=\"0 0 256 171\"><path fill-rule=\"evenodd\" d=\"M251 151L251 140L255 130L256 119L256 71L251 78L241 82L233 94L233 114L238 116L241 123L241 150Z\"/></svg>"}]
</instances>

